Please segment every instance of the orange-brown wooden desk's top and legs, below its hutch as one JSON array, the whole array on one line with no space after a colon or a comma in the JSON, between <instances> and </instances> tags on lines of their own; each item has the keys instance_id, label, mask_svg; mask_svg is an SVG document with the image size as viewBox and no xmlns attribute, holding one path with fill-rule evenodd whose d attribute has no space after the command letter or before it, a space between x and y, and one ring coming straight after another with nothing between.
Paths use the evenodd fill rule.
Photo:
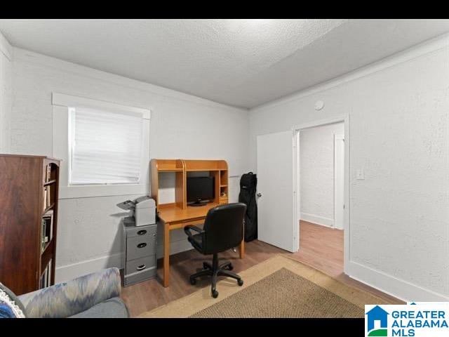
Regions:
<instances>
[{"instance_id":1,"label":"orange-brown wooden desk's top and legs, below its hutch","mask_svg":"<svg viewBox=\"0 0 449 337\"><path fill-rule=\"evenodd\" d=\"M210 203L206 206L187 206L185 209L175 206L163 206L159 209L159 218L163 221L163 286L170 282L170 230L184 228L187 225L198 225L204 222L209 209L218 206ZM187 236L186 236L187 240ZM245 254L245 241L240 244L240 258Z\"/></svg>"}]
</instances>

